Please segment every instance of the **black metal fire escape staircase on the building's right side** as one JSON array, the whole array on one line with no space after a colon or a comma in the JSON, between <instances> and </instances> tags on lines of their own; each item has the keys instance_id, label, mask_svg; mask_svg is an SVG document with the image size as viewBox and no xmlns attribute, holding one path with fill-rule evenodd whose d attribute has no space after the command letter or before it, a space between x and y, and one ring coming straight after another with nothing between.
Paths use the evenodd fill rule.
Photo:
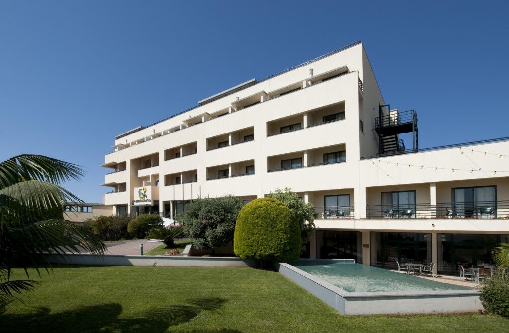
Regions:
<instances>
[{"instance_id":1,"label":"black metal fire escape staircase on the building's right side","mask_svg":"<svg viewBox=\"0 0 509 333\"><path fill-rule=\"evenodd\" d=\"M391 110L389 104L386 104L378 107L378 113L375 131L378 134L379 155L418 152L417 113L414 110L399 112L397 109ZM412 150L406 150L405 143L399 138L403 133L412 133Z\"/></svg>"}]
</instances>

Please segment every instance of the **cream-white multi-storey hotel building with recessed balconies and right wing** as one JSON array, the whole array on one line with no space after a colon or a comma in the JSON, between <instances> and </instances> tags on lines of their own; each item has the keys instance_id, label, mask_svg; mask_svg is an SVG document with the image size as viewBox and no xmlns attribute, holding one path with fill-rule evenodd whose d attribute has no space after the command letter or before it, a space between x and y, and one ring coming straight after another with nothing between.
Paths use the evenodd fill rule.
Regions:
<instances>
[{"instance_id":1,"label":"cream-white multi-storey hotel building with recessed balconies and right wing","mask_svg":"<svg viewBox=\"0 0 509 333\"><path fill-rule=\"evenodd\" d=\"M388 106L360 42L198 104L115 138L114 214L289 187L319 212L312 258L455 274L509 241L509 138L420 149L416 112Z\"/></svg>"}]
</instances>

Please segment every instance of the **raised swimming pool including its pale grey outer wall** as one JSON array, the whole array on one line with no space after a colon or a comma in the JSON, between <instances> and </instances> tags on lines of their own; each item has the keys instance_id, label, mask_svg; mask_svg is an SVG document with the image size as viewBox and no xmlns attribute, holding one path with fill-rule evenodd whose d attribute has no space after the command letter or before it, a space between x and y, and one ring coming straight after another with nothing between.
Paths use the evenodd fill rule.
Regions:
<instances>
[{"instance_id":1,"label":"raised swimming pool including its pale grey outer wall","mask_svg":"<svg viewBox=\"0 0 509 333\"><path fill-rule=\"evenodd\" d=\"M483 310L475 289L355 263L299 259L276 270L347 315L458 313Z\"/></svg>"}]
</instances>

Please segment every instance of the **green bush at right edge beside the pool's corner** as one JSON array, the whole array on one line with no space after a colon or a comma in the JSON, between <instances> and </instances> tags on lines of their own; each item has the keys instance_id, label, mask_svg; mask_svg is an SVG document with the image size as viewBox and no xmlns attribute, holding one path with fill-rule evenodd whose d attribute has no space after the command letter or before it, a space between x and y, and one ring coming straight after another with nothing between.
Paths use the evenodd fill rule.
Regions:
<instances>
[{"instance_id":1,"label":"green bush at right edge beside the pool's corner","mask_svg":"<svg viewBox=\"0 0 509 333\"><path fill-rule=\"evenodd\" d=\"M496 268L493 277L482 282L479 288L485 310L509 318L509 273L505 268Z\"/></svg>"}]
</instances>

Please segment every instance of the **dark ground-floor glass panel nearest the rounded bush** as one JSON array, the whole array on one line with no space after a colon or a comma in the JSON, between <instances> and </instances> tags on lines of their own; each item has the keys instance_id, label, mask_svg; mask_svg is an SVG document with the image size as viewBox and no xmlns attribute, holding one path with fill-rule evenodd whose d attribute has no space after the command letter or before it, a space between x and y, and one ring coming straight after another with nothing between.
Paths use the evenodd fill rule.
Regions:
<instances>
[{"instance_id":1,"label":"dark ground-floor glass panel nearest the rounded bush","mask_svg":"<svg viewBox=\"0 0 509 333\"><path fill-rule=\"evenodd\" d=\"M355 259L362 263L362 234L358 231L316 231L317 258Z\"/></svg>"}]
</instances>

